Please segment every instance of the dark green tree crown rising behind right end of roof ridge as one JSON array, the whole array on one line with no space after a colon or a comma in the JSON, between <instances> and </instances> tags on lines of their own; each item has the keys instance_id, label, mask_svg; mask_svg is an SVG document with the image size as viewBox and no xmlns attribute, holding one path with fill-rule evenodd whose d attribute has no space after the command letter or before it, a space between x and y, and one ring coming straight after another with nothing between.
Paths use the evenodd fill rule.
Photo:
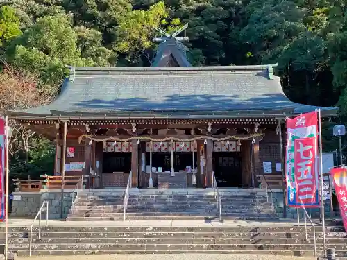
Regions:
<instances>
[{"instance_id":1,"label":"dark green tree crown rising behind right end of roof ridge","mask_svg":"<svg viewBox=\"0 0 347 260\"><path fill-rule=\"evenodd\" d=\"M276 62L282 51L305 31L304 12L291 1L254 0L247 10L249 21L240 37L257 64Z\"/></svg>"}]
</instances>

